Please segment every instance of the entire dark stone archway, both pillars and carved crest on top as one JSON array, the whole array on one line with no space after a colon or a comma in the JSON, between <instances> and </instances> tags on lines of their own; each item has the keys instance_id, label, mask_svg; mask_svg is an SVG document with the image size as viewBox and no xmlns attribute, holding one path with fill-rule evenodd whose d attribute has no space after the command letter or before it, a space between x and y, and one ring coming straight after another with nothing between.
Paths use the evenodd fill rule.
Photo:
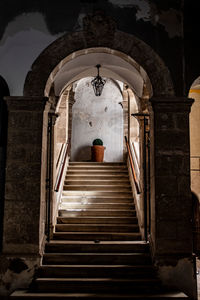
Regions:
<instances>
[{"instance_id":1,"label":"entire dark stone archway, both pillars and carved crest on top","mask_svg":"<svg viewBox=\"0 0 200 300\"><path fill-rule=\"evenodd\" d=\"M127 59L134 59L150 78L154 95L150 102L152 253L162 281L195 297L193 275L188 285L184 285L184 274L194 274L188 170L188 121L192 100L175 97L169 70L153 49L138 38L118 31L113 20L103 15L87 16L84 31L66 34L46 48L27 74L24 96L6 99L9 151L3 253L9 257L11 251L18 258L26 255L28 271L39 264L45 241L41 211L45 210L44 153L50 110L50 103L44 97L48 96L45 89L51 90L53 81L49 76L62 67L67 56L72 55L73 59L74 52L94 47L119 51ZM14 159L16 154L19 154L17 160ZM24 218L21 218L22 213Z\"/></svg>"}]
</instances>

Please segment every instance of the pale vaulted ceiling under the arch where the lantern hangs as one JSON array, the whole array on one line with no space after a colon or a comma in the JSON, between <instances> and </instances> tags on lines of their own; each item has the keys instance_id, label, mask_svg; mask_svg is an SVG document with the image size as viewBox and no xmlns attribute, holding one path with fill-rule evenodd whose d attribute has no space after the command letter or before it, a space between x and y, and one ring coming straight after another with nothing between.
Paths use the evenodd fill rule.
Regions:
<instances>
[{"instance_id":1,"label":"pale vaulted ceiling under the arch where the lantern hangs","mask_svg":"<svg viewBox=\"0 0 200 300\"><path fill-rule=\"evenodd\" d=\"M102 77L119 80L133 89L138 97L143 96L144 83L148 76L135 62L129 63L120 56L111 53L84 53L72 56L72 59L63 64L54 77L54 89L57 96L72 82L83 77L95 77L96 65L100 64ZM151 91L149 91L149 94Z\"/></svg>"}]
</instances>

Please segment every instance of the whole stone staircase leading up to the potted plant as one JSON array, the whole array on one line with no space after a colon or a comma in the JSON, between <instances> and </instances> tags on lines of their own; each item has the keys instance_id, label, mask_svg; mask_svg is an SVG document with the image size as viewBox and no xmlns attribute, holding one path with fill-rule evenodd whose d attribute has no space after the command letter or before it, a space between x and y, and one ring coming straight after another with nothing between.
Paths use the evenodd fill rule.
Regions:
<instances>
[{"instance_id":1,"label":"whole stone staircase leading up to the potted plant","mask_svg":"<svg viewBox=\"0 0 200 300\"><path fill-rule=\"evenodd\" d=\"M70 163L53 239L29 290L13 299L185 299L156 276L141 240L127 166Z\"/></svg>"}]
</instances>

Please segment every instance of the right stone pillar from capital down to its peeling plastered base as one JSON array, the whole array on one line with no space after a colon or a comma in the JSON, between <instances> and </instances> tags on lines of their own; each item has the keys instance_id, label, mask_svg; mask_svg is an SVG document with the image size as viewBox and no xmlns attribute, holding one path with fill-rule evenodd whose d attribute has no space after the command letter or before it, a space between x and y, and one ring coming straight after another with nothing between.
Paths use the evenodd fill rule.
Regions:
<instances>
[{"instance_id":1,"label":"right stone pillar from capital down to its peeling plastered base","mask_svg":"<svg viewBox=\"0 0 200 300\"><path fill-rule=\"evenodd\" d=\"M195 294L189 113L186 97L152 98L151 245L164 284Z\"/></svg>"}]
</instances>

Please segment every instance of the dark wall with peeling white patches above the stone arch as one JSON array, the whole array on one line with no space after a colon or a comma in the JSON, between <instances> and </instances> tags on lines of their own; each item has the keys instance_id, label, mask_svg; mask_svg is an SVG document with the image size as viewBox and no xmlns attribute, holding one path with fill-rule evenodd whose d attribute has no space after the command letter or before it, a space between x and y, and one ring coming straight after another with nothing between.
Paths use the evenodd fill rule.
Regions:
<instances>
[{"instance_id":1,"label":"dark wall with peeling white patches above the stone arch","mask_svg":"<svg viewBox=\"0 0 200 300\"><path fill-rule=\"evenodd\" d=\"M181 0L170 4L146 0L62 1L59 5L53 2L45 7L34 0L26 5L2 0L1 5L1 73L14 96L22 95L26 74L41 51L64 33L82 31L84 18L95 11L111 16L119 31L135 35L150 45L171 70L176 93L183 93L183 77L180 76L184 68ZM102 27L99 28L102 31ZM108 35L105 31L103 34Z\"/></svg>"}]
</instances>

